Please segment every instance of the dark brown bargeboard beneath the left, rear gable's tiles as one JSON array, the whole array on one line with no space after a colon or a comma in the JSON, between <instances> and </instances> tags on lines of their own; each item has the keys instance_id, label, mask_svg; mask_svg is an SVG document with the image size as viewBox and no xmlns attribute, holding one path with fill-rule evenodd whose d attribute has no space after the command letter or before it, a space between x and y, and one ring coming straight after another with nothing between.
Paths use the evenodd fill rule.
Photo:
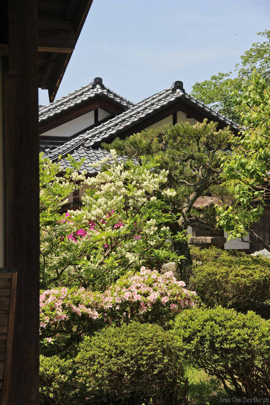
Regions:
<instances>
[{"instance_id":1,"label":"dark brown bargeboard beneath the left, rear gable's tiles","mask_svg":"<svg viewBox=\"0 0 270 405\"><path fill-rule=\"evenodd\" d=\"M125 111L125 107L115 103L113 100L109 100L105 97L96 96L90 100L82 102L81 104L75 105L68 110L59 112L51 118L47 118L40 123L40 134L44 134L47 131L52 130L53 128L59 127L68 121L71 121L74 118L78 118L90 111L93 111L97 108L102 108L103 110L109 112L111 115L119 115Z\"/></svg>"}]
</instances>

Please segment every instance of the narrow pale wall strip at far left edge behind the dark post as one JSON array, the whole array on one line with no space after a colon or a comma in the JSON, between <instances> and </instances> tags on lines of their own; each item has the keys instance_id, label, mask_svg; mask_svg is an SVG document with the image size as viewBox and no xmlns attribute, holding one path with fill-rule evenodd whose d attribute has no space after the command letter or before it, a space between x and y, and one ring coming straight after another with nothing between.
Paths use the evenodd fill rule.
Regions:
<instances>
[{"instance_id":1,"label":"narrow pale wall strip at far left edge behind the dark post","mask_svg":"<svg viewBox=\"0 0 270 405\"><path fill-rule=\"evenodd\" d=\"M3 59L0 58L0 267L4 261L4 117L3 117Z\"/></svg>"}]
</instances>

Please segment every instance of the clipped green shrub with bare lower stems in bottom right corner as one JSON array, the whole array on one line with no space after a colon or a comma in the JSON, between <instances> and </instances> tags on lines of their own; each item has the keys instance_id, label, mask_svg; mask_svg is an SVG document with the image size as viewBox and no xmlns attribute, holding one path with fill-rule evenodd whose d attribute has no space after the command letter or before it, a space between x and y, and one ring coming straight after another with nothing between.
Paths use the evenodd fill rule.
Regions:
<instances>
[{"instance_id":1,"label":"clipped green shrub with bare lower stems in bottom right corner","mask_svg":"<svg viewBox=\"0 0 270 405\"><path fill-rule=\"evenodd\" d=\"M175 331L185 356L217 377L227 393L270 398L270 322L254 312L191 309L179 314Z\"/></svg>"}]
</instances>

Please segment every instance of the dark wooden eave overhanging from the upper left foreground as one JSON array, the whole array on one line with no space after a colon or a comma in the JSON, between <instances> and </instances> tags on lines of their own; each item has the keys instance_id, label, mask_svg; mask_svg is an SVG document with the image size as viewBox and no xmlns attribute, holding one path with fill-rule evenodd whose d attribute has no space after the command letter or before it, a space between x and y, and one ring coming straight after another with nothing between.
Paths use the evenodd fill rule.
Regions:
<instances>
[{"instance_id":1,"label":"dark wooden eave overhanging from the upper left foreground","mask_svg":"<svg viewBox=\"0 0 270 405\"><path fill-rule=\"evenodd\" d=\"M38 0L38 87L48 90L50 102L55 99L92 3ZM4 8L0 22L7 21L7 13L8 8ZM0 35L0 56L8 54L8 38Z\"/></svg>"}]
</instances>

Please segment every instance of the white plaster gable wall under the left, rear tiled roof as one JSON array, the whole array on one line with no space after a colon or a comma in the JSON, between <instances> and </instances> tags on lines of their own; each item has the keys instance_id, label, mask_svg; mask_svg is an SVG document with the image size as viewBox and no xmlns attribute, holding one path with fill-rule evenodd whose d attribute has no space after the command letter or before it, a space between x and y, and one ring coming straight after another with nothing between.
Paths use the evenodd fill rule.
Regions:
<instances>
[{"instance_id":1,"label":"white plaster gable wall under the left, rear tiled roof","mask_svg":"<svg viewBox=\"0 0 270 405\"><path fill-rule=\"evenodd\" d=\"M110 113L107 111L102 110L101 108L98 109L98 120L100 121L103 118L106 118L109 116ZM76 133L83 131L84 129L90 127L90 125L93 125L95 123L95 118L94 118L94 110L87 112L84 115L81 115L78 118L71 119L71 121L68 121L68 123L65 123L63 125L59 125L59 127L56 127L50 131L45 132L42 134L42 136L57 136L57 137L67 137L67 136L72 136L75 135Z\"/></svg>"}]
</instances>

